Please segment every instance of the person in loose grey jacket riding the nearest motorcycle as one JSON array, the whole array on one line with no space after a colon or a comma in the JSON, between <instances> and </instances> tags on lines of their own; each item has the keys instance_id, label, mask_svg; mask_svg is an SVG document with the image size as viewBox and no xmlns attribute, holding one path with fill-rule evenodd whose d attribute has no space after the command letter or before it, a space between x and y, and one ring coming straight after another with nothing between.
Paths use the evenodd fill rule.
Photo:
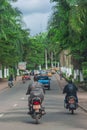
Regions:
<instances>
[{"instance_id":1,"label":"person in loose grey jacket riding the nearest motorcycle","mask_svg":"<svg viewBox=\"0 0 87 130\"><path fill-rule=\"evenodd\" d=\"M34 82L29 84L27 92L26 92L26 95L30 94L30 96L28 97L28 106L29 106L28 114L32 114L32 111L31 111L31 108L30 108L31 99L33 97L35 97L36 94L38 94L38 96L41 99L41 104L42 104L42 102L44 100L44 94L45 94L44 86L41 83L38 82L37 76L34 76L33 80L34 80ZM42 109L43 109L43 107L42 107Z\"/></svg>"}]
</instances>

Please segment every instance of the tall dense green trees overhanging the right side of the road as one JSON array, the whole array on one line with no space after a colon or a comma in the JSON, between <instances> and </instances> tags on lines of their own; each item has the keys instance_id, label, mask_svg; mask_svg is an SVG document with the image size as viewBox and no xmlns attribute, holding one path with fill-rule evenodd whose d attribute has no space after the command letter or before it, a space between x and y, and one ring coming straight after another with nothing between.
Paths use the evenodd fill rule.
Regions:
<instances>
[{"instance_id":1,"label":"tall dense green trees overhanging the right side of the road","mask_svg":"<svg viewBox=\"0 0 87 130\"><path fill-rule=\"evenodd\" d=\"M50 45L57 43L57 52L69 49L68 55L72 55L75 61L72 62L73 65L81 69L82 63L87 61L87 1L51 0L51 2L55 2L55 5L48 22Z\"/></svg>"}]
</instances>

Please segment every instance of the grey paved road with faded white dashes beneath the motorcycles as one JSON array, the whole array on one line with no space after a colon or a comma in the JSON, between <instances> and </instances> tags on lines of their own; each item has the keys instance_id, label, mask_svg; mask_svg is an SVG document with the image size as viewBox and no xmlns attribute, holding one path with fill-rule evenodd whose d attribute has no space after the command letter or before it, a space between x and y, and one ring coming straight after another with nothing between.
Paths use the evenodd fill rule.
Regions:
<instances>
[{"instance_id":1,"label":"grey paved road with faded white dashes beneath the motorcycles","mask_svg":"<svg viewBox=\"0 0 87 130\"><path fill-rule=\"evenodd\" d=\"M46 90L46 115L36 125L35 121L27 115L28 84L18 84L16 87L0 92L0 129L3 130L86 130L87 115L80 109L74 115L63 107L64 95L61 86L55 77L51 80L51 90Z\"/></svg>"}]
</instances>

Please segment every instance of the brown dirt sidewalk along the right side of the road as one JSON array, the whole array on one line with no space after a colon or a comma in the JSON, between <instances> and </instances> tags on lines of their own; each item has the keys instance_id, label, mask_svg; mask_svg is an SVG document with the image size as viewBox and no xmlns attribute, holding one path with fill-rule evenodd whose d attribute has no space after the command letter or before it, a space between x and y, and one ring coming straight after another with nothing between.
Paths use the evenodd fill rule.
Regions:
<instances>
[{"instance_id":1,"label":"brown dirt sidewalk along the right side of the road","mask_svg":"<svg viewBox=\"0 0 87 130\"><path fill-rule=\"evenodd\" d=\"M63 89L64 86L67 84L67 81L64 78L60 80L60 76L58 74L56 74L56 78L58 80L59 86L61 87L61 89ZM78 88L78 99L79 107L87 112L87 92L85 92L81 88Z\"/></svg>"}]
</instances>

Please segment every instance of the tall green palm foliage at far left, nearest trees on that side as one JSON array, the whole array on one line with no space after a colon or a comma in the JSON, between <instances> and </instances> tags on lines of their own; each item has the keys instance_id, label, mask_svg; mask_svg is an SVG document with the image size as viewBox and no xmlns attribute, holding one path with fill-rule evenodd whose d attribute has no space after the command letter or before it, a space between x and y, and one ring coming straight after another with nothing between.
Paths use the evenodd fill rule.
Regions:
<instances>
[{"instance_id":1,"label":"tall green palm foliage at far left, nearest trees on that side","mask_svg":"<svg viewBox=\"0 0 87 130\"><path fill-rule=\"evenodd\" d=\"M8 0L0 1L0 10L0 63L14 66L23 58L23 45L29 39L29 30L22 29L22 13Z\"/></svg>"}]
</instances>

